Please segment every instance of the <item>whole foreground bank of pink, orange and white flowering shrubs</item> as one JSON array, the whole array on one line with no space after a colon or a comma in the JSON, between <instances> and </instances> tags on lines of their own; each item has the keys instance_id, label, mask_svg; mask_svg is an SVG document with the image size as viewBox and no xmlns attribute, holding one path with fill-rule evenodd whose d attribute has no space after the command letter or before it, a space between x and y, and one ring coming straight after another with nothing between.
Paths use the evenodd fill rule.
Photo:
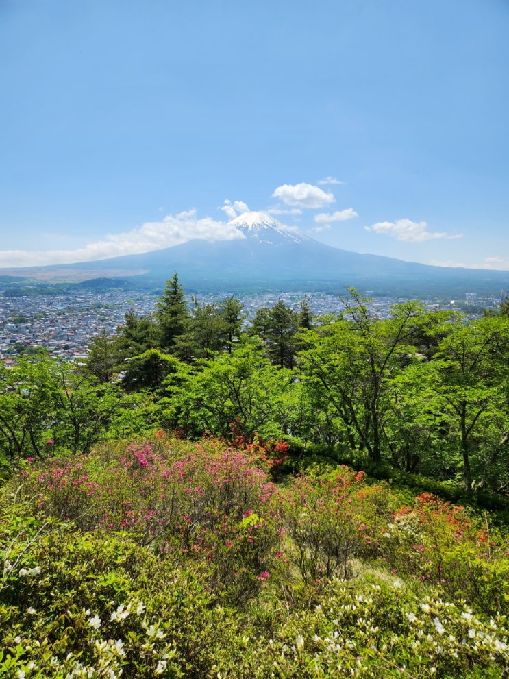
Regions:
<instances>
[{"instance_id":1,"label":"whole foreground bank of pink, orange and white flowering shrubs","mask_svg":"<svg viewBox=\"0 0 509 679\"><path fill-rule=\"evenodd\" d=\"M156 432L27 462L0 492L1 676L506 675L487 515L344 466L276 489L256 454Z\"/></svg>"}]
</instances>

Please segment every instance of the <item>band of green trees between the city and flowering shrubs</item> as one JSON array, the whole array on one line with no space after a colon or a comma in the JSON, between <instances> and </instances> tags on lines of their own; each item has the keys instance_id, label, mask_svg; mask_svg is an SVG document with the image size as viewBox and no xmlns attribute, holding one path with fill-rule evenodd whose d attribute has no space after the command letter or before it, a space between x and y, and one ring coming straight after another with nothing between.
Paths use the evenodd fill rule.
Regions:
<instances>
[{"instance_id":1,"label":"band of green trees between the city and flowering shrubs","mask_svg":"<svg viewBox=\"0 0 509 679\"><path fill-rule=\"evenodd\" d=\"M245 441L284 438L408 473L509 487L509 315L466 322L409 301L389 319L349 291L338 317L308 301L261 308L235 297L188 308L177 275L153 314L128 312L77 370L44 358L1 368L8 460L164 428ZM51 441L51 443L49 443Z\"/></svg>"}]
</instances>

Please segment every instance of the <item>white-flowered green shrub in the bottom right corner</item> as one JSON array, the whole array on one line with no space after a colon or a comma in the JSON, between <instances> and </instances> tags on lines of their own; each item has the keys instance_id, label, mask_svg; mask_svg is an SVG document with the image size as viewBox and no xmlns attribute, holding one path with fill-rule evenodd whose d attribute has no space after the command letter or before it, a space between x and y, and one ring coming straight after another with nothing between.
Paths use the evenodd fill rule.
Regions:
<instances>
[{"instance_id":1,"label":"white-flowered green shrub in the bottom right corner","mask_svg":"<svg viewBox=\"0 0 509 679\"><path fill-rule=\"evenodd\" d=\"M399 580L332 580L310 608L290 610L269 634L238 640L222 678L303 679L506 676L504 616L484 619L466 606L419 598ZM215 668L214 668L215 669Z\"/></svg>"}]
</instances>

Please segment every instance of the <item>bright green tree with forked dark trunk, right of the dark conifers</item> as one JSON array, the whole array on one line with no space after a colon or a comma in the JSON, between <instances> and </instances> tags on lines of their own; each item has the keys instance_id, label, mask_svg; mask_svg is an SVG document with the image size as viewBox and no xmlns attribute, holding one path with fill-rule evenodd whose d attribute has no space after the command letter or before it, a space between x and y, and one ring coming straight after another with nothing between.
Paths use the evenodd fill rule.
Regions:
<instances>
[{"instance_id":1,"label":"bright green tree with forked dark trunk, right of the dark conifers","mask_svg":"<svg viewBox=\"0 0 509 679\"><path fill-rule=\"evenodd\" d=\"M306 334L301 371L322 421L335 432L340 425L345 445L378 462L392 412L391 380L402 358L415 353L410 331L425 314L421 305L408 302L395 306L392 318L379 320L369 313L369 300L350 292L340 319Z\"/></svg>"}]
</instances>

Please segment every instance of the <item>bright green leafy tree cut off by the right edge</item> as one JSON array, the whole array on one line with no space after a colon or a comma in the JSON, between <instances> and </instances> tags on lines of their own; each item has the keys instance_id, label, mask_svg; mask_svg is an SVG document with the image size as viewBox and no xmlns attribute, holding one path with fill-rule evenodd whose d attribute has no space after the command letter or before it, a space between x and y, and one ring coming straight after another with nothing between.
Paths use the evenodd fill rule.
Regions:
<instances>
[{"instance_id":1,"label":"bright green leafy tree cut off by the right edge","mask_svg":"<svg viewBox=\"0 0 509 679\"><path fill-rule=\"evenodd\" d=\"M400 402L408 406L419 392L415 421L439 439L467 489L501 491L509 486L509 321L484 317L449 328L434 360L401 376Z\"/></svg>"}]
</instances>

